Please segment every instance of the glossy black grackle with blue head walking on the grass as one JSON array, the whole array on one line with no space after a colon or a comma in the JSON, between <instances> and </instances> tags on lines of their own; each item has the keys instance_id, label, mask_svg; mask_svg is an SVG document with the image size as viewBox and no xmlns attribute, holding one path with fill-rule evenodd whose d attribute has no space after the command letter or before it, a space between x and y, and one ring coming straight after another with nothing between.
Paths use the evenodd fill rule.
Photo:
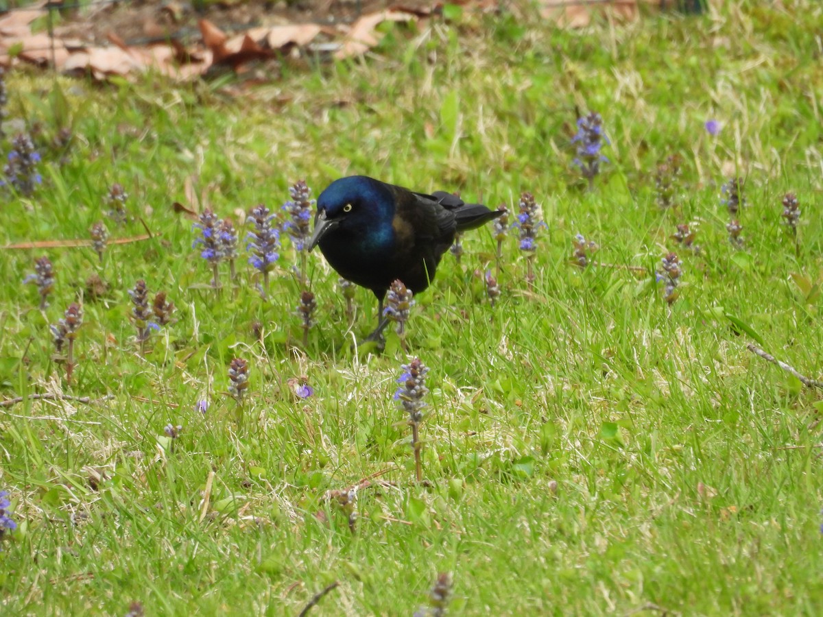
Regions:
<instances>
[{"instance_id":1,"label":"glossy black grackle with blue head walking on the grass","mask_svg":"<svg viewBox=\"0 0 823 617\"><path fill-rule=\"evenodd\" d=\"M473 230L502 214L452 193L414 193L367 176L335 180L320 193L309 251L323 256L344 279L377 296L379 325L386 326L383 301L400 280L417 294L435 278L440 257L458 231Z\"/></svg>"}]
</instances>

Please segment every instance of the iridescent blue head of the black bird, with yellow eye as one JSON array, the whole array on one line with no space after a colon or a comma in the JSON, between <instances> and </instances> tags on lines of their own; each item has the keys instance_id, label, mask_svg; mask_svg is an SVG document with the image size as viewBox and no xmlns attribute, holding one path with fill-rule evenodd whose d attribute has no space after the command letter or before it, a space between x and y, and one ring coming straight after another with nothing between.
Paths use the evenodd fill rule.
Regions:
<instances>
[{"instance_id":1,"label":"iridescent blue head of the black bird, with yellow eye","mask_svg":"<svg viewBox=\"0 0 823 617\"><path fill-rule=\"evenodd\" d=\"M352 234L380 234L383 226L391 231L394 198L387 185L367 176L335 180L317 198L314 233L307 244L311 251L323 237L340 230Z\"/></svg>"}]
</instances>

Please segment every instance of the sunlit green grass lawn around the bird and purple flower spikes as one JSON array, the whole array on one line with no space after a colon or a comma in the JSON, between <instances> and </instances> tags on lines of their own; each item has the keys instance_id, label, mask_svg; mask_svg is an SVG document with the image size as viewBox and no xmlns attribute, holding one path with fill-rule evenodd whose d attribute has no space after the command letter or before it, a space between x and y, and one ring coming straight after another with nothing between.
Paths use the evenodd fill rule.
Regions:
<instances>
[{"instance_id":1,"label":"sunlit green grass lawn around the bird and purple flower spikes","mask_svg":"<svg viewBox=\"0 0 823 617\"><path fill-rule=\"evenodd\" d=\"M803 286L823 281L823 9L762 4L583 31L470 15L396 27L365 60L287 65L234 98L216 84L13 73L9 115L40 123L44 184L4 197L0 245L86 238L114 182L157 235L110 246L102 266L91 248L0 251L0 396L111 395L0 407L0 489L20 524L2 541L3 610L123 615L140 601L148 615L295 615L339 581L313 613L408 615L449 572L465 615L816 613L821 392L752 355L724 317L820 378L820 296ZM69 118L54 113L58 90ZM571 165L575 105L599 111L611 137L593 193ZM75 143L59 165L43 144L63 123ZM653 172L674 153L681 205L662 212ZM718 199L736 170L744 251ZM494 259L484 229L417 298L425 485L392 400L408 356L393 335L382 355L351 350L374 325L370 292L357 291L346 327L337 276L310 255L318 323L303 349L288 240L269 302L244 259L236 294L217 294L171 206L188 183L236 220L260 202L279 211L297 179L316 195L353 173L491 206L528 190L547 223L533 291L513 232L491 308L475 275ZM779 222L787 191L801 201L797 249ZM670 307L652 273L681 222L699 223L703 250L680 253ZM577 233L608 265L570 266ZM21 285L41 254L57 271L45 312ZM83 298L93 274L109 284L101 299ZM179 307L145 357L128 320L137 279ZM49 323L77 299L67 384ZM241 423L226 395L234 357L251 367ZM287 383L302 375L305 401ZM169 421L184 426L173 450ZM324 496L377 473L351 533Z\"/></svg>"}]
</instances>

